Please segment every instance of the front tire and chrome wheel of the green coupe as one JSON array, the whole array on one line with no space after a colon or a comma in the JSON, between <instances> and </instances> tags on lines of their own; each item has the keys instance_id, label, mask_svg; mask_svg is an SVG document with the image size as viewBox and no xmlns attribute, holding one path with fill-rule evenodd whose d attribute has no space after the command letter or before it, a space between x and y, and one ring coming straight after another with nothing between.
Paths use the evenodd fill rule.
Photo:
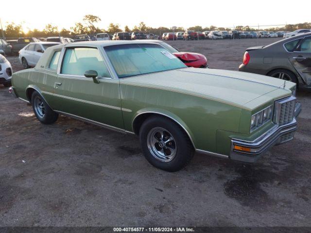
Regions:
<instances>
[{"instance_id":1,"label":"front tire and chrome wheel of the green coupe","mask_svg":"<svg viewBox=\"0 0 311 233\"><path fill-rule=\"evenodd\" d=\"M139 139L148 162L165 171L182 169L194 155L188 135L179 125L165 117L147 118L140 127Z\"/></svg>"}]
</instances>

